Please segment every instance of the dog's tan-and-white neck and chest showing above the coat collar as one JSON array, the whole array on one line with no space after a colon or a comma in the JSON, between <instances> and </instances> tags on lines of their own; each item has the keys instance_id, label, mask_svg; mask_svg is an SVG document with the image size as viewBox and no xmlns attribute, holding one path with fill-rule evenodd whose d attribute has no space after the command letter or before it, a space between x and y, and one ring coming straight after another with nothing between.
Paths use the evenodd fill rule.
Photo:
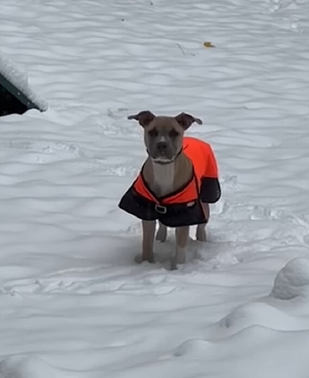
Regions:
<instances>
[{"instance_id":1,"label":"dog's tan-and-white neck and chest showing above the coat collar","mask_svg":"<svg viewBox=\"0 0 309 378\"><path fill-rule=\"evenodd\" d=\"M173 193L185 185L192 176L192 162L181 152L168 164L156 163L148 157L143 168L143 177L157 197Z\"/></svg>"}]
</instances>

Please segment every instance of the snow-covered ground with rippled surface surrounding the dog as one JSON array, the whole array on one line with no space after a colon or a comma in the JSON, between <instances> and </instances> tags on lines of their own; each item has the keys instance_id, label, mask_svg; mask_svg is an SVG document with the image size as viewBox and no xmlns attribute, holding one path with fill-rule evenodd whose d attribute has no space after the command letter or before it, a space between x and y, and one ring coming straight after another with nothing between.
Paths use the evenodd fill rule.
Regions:
<instances>
[{"instance_id":1,"label":"snow-covered ground with rippled surface surrounding the dog","mask_svg":"<svg viewBox=\"0 0 309 378\"><path fill-rule=\"evenodd\" d=\"M1 0L0 50L48 102L0 118L1 378L309 377L309 2ZM203 46L212 42L215 48ZM192 113L209 241L136 265L127 115Z\"/></svg>"}]
</instances>

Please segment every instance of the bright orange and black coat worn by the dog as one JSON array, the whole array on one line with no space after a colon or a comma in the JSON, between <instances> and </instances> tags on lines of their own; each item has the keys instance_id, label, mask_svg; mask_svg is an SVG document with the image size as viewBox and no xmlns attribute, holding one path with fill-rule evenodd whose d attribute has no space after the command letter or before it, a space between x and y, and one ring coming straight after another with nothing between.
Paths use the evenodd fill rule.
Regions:
<instances>
[{"instance_id":1,"label":"bright orange and black coat worn by the dog","mask_svg":"<svg viewBox=\"0 0 309 378\"><path fill-rule=\"evenodd\" d=\"M190 137L183 138L182 150L193 165L188 183L159 198L145 182L141 170L119 207L139 219L159 219L169 227L205 223L207 219L200 202L214 203L221 196L215 154L208 143Z\"/></svg>"}]
</instances>

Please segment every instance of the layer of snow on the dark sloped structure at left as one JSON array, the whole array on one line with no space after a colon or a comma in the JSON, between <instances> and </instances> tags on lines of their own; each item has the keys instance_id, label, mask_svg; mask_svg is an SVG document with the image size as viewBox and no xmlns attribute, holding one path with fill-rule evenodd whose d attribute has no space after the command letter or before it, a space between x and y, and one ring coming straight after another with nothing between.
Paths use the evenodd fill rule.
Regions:
<instances>
[{"instance_id":1,"label":"layer of snow on the dark sloped structure at left","mask_svg":"<svg viewBox=\"0 0 309 378\"><path fill-rule=\"evenodd\" d=\"M28 77L25 72L8 58L4 57L0 51L0 75L13 84L20 92L22 92L28 99L40 110L46 111L48 108L47 102L36 94L28 83Z\"/></svg>"}]
</instances>

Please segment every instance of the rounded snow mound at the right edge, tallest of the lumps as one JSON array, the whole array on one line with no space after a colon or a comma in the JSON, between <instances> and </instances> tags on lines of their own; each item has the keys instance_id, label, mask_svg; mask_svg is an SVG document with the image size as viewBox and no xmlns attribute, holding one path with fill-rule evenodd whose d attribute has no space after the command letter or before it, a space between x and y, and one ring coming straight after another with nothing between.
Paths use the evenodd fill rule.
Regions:
<instances>
[{"instance_id":1,"label":"rounded snow mound at the right edge, tallest of the lumps","mask_svg":"<svg viewBox=\"0 0 309 378\"><path fill-rule=\"evenodd\" d=\"M309 296L309 259L289 261L277 274L270 295L281 300Z\"/></svg>"}]
</instances>

